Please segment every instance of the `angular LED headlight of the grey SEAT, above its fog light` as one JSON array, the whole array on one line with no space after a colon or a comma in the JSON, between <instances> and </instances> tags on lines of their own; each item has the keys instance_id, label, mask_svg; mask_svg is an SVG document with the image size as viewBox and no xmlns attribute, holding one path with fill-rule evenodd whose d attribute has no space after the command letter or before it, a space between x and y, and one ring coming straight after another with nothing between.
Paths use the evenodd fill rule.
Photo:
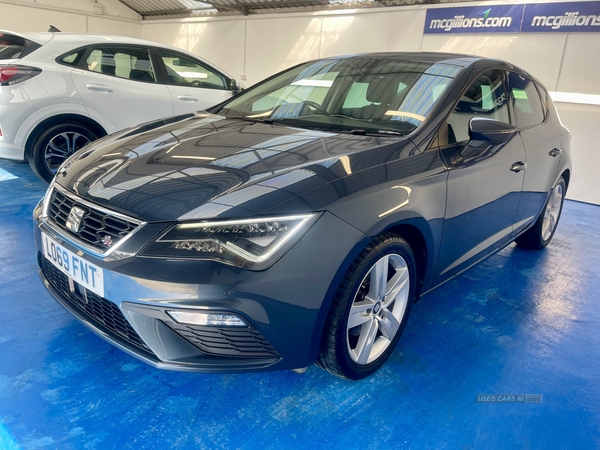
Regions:
<instances>
[{"instance_id":1,"label":"angular LED headlight of the grey SEAT, above its fog light","mask_svg":"<svg viewBox=\"0 0 600 450\"><path fill-rule=\"evenodd\" d=\"M142 256L209 259L254 270L279 259L319 214L180 223L147 246Z\"/></svg>"}]
</instances>

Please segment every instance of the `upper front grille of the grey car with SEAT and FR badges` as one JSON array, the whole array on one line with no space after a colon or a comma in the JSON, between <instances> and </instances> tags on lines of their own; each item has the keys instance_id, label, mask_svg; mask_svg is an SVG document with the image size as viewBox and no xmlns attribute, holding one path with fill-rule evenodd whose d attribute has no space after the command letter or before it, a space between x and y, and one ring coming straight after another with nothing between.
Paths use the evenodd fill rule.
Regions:
<instances>
[{"instance_id":1,"label":"upper front grille of the grey car with SEAT and FR badges","mask_svg":"<svg viewBox=\"0 0 600 450\"><path fill-rule=\"evenodd\" d=\"M77 232L68 229L66 225L69 213L74 206L84 211ZM76 236L101 253L106 252L139 225L80 203L76 197L66 195L58 189L54 189L50 196L48 218L67 234Z\"/></svg>"}]
</instances>

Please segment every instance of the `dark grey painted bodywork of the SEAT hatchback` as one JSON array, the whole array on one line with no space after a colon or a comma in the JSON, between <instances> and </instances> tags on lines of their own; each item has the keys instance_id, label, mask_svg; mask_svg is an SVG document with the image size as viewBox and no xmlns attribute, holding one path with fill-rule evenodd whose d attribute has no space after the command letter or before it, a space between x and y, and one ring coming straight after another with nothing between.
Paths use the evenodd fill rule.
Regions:
<instances>
[{"instance_id":1,"label":"dark grey painted bodywork of the SEAT hatchback","mask_svg":"<svg viewBox=\"0 0 600 450\"><path fill-rule=\"evenodd\" d=\"M178 370L304 367L316 360L323 323L341 278L374 236L393 230L418 247L414 250L424 293L527 229L558 177L570 176L568 131L551 101L547 99L544 124L516 128L506 144L457 158L464 145L438 148L432 139L465 87L489 68L524 72L501 61L460 55L373 55L386 57L448 60L463 67L432 114L407 137L227 119L216 107L211 110L215 114L153 122L104 138L68 164L56 183L147 222L120 249L120 257L85 256L105 269L106 297L122 308L146 342L157 349L165 345L152 326L154 319L148 319L152 314L140 316L140 308L153 307L153 314L163 314L161 308L166 306L202 306L245 317L281 359L248 366L209 358L205 364L206 355L197 351L189 356L184 344L171 342L168 346L177 357L156 351L162 360L149 360L118 339L104 337L147 362ZM555 147L563 150L558 158L548 154ZM532 167L515 173L510 167L518 161ZM487 182L490 179L496 182ZM140 256L143 247L176 220L305 211L325 213L264 271ZM78 250L41 217L36 223L38 248L44 230Z\"/></svg>"}]
</instances>

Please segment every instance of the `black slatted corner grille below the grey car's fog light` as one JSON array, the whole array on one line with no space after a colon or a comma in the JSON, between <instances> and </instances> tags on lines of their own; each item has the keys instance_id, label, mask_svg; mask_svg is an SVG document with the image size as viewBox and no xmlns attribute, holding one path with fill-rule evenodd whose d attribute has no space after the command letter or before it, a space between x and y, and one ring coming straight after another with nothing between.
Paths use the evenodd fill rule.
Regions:
<instances>
[{"instance_id":1,"label":"black slatted corner grille below the grey car's fog light","mask_svg":"<svg viewBox=\"0 0 600 450\"><path fill-rule=\"evenodd\" d=\"M167 325L190 344L211 355L279 357L269 341L255 328L216 328L178 323Z\"/></svg>"}]
</instances>

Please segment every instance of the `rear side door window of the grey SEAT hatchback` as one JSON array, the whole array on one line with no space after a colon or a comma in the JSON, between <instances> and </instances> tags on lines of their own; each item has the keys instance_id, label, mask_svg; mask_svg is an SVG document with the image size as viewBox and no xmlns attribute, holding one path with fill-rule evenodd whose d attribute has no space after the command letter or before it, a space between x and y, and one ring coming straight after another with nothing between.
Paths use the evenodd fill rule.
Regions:
<instances>
[{"instance_id":1,"label":"rear side door window of the grey SEAT hatchback","mask_svg":"<svg viewBox=\"0 0 600 450\"><path fill-rule=\"evenodd\" d=\"M527 128L542 123L544 121L544 107L534 82L515 72L509 72L508 80L519 128Z\"/></svg>"}]
</instances>

